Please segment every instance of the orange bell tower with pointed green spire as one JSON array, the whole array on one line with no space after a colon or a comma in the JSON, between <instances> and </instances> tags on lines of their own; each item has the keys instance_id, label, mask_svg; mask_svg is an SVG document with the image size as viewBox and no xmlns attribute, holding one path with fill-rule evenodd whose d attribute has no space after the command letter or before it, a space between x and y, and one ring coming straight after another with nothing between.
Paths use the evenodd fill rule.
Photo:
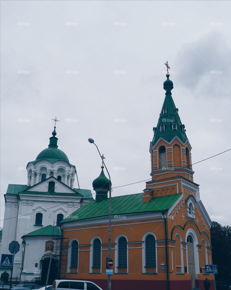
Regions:
<instances>
[{"instance_id":1,"label":"orange bell tower with pointed green spire","mask_svg":"<svg viewBox=\"0 0 231 290\"><path fill-rule=\"evenodd\" d=\"M181 180L194 184L191 145L186 136L185 126L180 120L178 108L173 102L173 82L169 79L169 73L166 77L167 80L163 84L165 99L150 142L152 180L146 182L144 202L148 202L152 197L181 193ZM169 186L166 186L167 184Z\"/></svg>"}]
</instances>

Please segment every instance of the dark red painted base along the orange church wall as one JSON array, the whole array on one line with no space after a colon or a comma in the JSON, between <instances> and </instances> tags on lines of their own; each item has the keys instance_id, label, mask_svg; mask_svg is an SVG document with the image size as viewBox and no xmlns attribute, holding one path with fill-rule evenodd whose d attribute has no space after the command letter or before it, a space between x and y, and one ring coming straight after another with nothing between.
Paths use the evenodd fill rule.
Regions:
<instances>
[{"instance_id":1,"label":"dark red painted base along the orange church wall","mask_svg":"<svg viewBox=\"0 0 231 290\"><path fill-rule=\"evenodd\" d=\"M107 280L90 279L103 290L107 290ZM210 290L215 290L213 280L209 280L211 283ZM204 281L196 280L196 287L204 290ZM166 281L158 280L112 280L111 290L145 290L156 289L166 290ZM191 290L192 284L189 280L169 281L169 290Z\"/></svg>"}]
</instances>

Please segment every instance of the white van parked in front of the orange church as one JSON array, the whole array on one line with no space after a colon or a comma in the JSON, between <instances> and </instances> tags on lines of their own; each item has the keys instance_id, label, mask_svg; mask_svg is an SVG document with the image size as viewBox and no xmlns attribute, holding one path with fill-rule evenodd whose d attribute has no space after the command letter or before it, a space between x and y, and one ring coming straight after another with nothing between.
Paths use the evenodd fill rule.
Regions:
<instances>
[{"instance_id":1,"label":"white van parked in front of the orange church","mask_svg":"<svg viewBox=\"0 0 231 290\"><path fill-rule=\"evenodd\" d=\"M54 280L52 290L103 290L103 289L90 281Z\"/></svg>"}]
</instances>

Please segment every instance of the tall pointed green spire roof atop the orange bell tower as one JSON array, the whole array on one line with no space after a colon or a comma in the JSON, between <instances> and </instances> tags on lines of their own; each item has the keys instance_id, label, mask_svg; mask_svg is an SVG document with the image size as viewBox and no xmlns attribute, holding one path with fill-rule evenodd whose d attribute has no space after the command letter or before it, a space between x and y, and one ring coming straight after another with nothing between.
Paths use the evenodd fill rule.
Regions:
<instances>
[{"instance_id":1,"label":"tall pointed green spire roof atop the orange bell tower","mask_svg":"<svg viewBox=\"0 0 231 290\"><path fill-rule=\"evenodd\" d=\"M178 136L182 142L186 142L188 139L185 131L183 133L184 125L181 123L180 116L178 115L178 109L176 108L171 90L173 89L173 82L169 79L169 75L167 76L167 80L164 82L164 89L166 90L165 93L165 100L164 104L161 109L160 117L158 120L158 124L156 126L155 135L151 142L152 146L156 143L159 138L170 142L174 137ZM163 113L163 110L166 109L167 112ZM177 124L177 130L172 129L172 123ZM165 125L165 131L160 132L160 125ZM183 129L182 129L183 125Z\"/></svg>"}]
</instances>

